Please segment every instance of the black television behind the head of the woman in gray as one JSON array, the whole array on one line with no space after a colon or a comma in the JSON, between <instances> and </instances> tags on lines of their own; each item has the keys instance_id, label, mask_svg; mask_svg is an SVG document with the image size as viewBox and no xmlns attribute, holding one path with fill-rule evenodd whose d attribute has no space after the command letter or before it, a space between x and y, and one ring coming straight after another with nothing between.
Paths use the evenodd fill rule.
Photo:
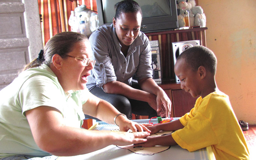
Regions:
<instances>
[{"instance_id":1,"label":"black television behind the head of the woman in gray","mask_svg":"<svg viewBox=\"0 0 256 160\"><path fill-rule=\"evenodd\" d=\"M114 5L121 0L97 0L99 25L112 24ZM142 10L141 31L144 33L178 28L176 0L135 0Z\"/></svg>"}]
</instances>

